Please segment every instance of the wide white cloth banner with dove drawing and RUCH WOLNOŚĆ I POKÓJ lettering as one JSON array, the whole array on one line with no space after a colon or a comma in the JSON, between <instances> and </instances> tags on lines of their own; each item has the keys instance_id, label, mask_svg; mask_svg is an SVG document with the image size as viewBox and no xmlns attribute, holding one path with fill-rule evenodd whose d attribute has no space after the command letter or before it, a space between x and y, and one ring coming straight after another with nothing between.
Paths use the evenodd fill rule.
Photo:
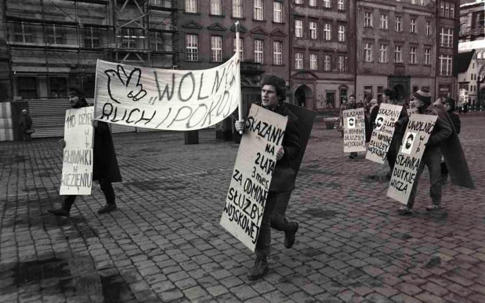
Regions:
<instances>
[{"instance_id":1,"label":"wide white cloth banner with dove drawing and RUCH WOLNO\u015a\u0106 I POK\u00d3J lettering","mask_svg":"<svg viewBox=\"0 0 485 303\"><path fill-rule=\"evenodd\" d=\"M196 130L229 116L239 104L234 55L210 69L178 71L98 60L95 116L99 121L166 130Z\"/></svg>"}]
</instances>

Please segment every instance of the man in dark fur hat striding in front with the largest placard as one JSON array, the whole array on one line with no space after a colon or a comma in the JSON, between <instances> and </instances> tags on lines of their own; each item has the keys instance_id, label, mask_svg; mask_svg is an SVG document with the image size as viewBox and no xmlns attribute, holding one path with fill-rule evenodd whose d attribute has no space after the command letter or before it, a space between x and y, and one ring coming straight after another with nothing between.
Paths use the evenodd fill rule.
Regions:
<instances>
[{"instance_id":1,"label":"man in dark fur hat striding in front with the largest placard","mask_svg":"<svg viewBox=\"0 0 485 303\"><path fill-rule=\"evenodd\" d=\"M268 272L267 257L271 252L271 228L284 231L286 247L293 245L298 229L296 222L288 222L284 217L284 211L289 200L288 195L295 188L295 171L290 167L290 160L296 158L300 151L298 117L284 105L285 98L286 84L284 79L273 75L264 75L261 79L261 102L257 102L256 105L288 116L288 122L284 130L282 146L276 153L276 166L264 205L256 243L256 260L253 268L248 272L248 278L251 280L258 279ZM244 127L244 121L236 121L235 128L238 132L244 131ZM282 203L285 205L281 205ZM274 214L275 207L279 211Z\"/></svg>"}]
</instances>

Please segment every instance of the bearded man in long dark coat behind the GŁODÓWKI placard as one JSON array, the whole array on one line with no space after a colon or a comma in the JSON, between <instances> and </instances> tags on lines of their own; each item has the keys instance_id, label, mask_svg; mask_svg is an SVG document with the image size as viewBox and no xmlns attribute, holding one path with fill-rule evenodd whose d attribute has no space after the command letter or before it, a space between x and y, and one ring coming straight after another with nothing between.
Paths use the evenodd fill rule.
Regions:
<instances>
[{"instance_id":1,"label":"bearded man in long dark coat behind the G\u0141OD\u00d3WKI placard","mask_svg":"<svg viewBox=\"0 0 485 303\"><path fill-rule=\"evenodd\" d=\"M84 94L73 89L69 92L69 102L72 108L86 107L87 102ZM93 180L98 180L106 198L106 205L98 210L99 214L114 211L116 209L115 191L112 183L121 182L120 169L116 159L115 147L111 130L106 122L93 121L94 146L93 146ZM65 147L65 141L61 139L59 144ZM60 208L49 209L47 212L55 216L69 217L71 207L76 200L76 195L67 195Z\"/></svg>"}]
</instances>

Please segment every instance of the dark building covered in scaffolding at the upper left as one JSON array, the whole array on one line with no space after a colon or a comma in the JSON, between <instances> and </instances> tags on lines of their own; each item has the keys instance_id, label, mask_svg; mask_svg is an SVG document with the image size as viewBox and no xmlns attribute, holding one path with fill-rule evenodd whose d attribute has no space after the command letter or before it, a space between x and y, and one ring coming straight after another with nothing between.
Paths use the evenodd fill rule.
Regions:
<instances>
[{"instance_id":1,"label":"dark building covered in scaffolding at the upper left","mask_svg":"<svg viewBox=\"0 0 485 303\"><path fill-rule=\"evenodd\" d=\"M97 59L171 68L177 64L175 3L2 0L6 97L65 97L70 86L93 97Z\"/></svg>"}]
</instances>

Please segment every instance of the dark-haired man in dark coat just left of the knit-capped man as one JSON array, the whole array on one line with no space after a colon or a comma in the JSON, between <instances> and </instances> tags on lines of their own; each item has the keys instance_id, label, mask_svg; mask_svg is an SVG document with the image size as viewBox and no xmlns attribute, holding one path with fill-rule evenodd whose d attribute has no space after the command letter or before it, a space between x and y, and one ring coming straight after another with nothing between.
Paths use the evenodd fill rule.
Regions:
<instances>
[{"instance_id":1,"label":"dark-haired man in dark coat just left of the knit-capped man","mask_svg":"<svg viewBox=\"0 0 485 303\"><path fill-rule=\"evenodd\" d=\"M388 103L392 105L402 105L399 104L396 98L396 92L392 88L387 88L384 90L384 96L382 98L382 103ZM395 123L394 134L392 135L391 143L389 144L389 149L387 150L387 163L389 164L389 173L387 178L391 178L392 170L394 170L394 164L396 158L398 157L399 148L401 147L401 142L403 141L404 132L409 121L409 115L406 111L406 107L403 105L401 113L399 114L398 121Z\"/></svg>"}]
</instances>

